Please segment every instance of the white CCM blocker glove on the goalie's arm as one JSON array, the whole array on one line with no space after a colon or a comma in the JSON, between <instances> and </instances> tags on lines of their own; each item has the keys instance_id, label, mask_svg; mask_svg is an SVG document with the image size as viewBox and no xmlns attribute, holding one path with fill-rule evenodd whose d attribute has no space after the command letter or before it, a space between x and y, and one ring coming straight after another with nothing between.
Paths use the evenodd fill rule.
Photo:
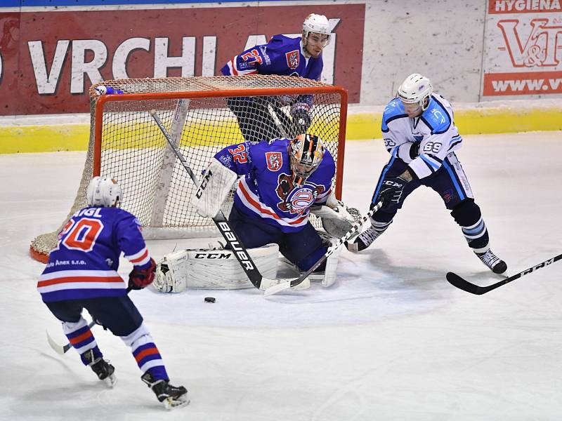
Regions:
<instances>
[{"instance_id":1,"label":"white CCM blocker glove on the goalie's arm","mask_svg":"<svg viewBox=\"0 0 562 421\"><path fill-rule=\"evenodd\" d=\"M238 176L215 158L205 171L200 187L191 198L192 206L202 217L213 218L225 201Z\"/></svg>"}]
</instances>

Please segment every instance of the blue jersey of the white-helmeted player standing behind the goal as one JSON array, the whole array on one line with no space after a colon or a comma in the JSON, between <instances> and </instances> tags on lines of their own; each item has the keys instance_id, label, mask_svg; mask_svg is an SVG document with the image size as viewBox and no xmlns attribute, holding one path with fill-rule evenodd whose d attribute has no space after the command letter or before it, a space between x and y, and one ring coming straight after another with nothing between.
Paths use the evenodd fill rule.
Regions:
<instances>
[{"instance_id":1,"label":"blue jersey of the white-helmeted player standing behind the goal","mask_svg":"<svg viewBox=\"0 0 562 421\"><path fill-rule=\"evenodd\" d=\"M320 81L322 55L306 58L300 38L274 35L268 44L254 46L235 55L221 69L225 76L244 74L279 74Z\"/></svg>"}]
</instances>

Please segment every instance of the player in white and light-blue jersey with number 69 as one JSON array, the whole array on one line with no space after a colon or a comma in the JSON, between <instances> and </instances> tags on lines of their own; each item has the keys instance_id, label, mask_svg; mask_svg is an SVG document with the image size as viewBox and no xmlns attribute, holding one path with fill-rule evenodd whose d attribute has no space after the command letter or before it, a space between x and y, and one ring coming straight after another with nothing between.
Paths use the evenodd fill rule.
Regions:
<instances>
[{"instance_id":1,"label":"player in white and light-blue jersey with number 69","mask_svg":"<svg viewBox=\"0 0 562 421\"><path fill-rule=\"evenodd\" d=\"M384 206L372 216L371 227L354 243L347 243L347 248L360 251L370 246L391 225L406 197L424 185L441 196L484 265L496 274L506 272L506 263L490 250L488 229L455 154L462 138L453 121L452 107L433 93L429 79L421 74L407 76L397 97L384 109L381 130L391 159L374 189L371 207L379 201Z\"/></svg>"}]
</instances>

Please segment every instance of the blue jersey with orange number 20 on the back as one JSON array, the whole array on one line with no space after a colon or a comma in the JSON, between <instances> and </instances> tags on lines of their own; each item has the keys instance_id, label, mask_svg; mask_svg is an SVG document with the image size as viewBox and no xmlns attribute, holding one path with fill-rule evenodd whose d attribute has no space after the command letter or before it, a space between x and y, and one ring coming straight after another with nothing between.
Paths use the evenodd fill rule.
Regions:
<instances>
[{"instance_id":1,"label":"blue jersey with orange number 20 on the back","mask_svg":"<svg viewBox=\"0 0 562 421\"><path fill-rule=\"evenodd\" d=\"M138 269L150 267L140 225L119 208L88 207L74 213L39 277L43 301L126 295L126 283L117 274L121 252Z\"/></svg>"}]
</instances>

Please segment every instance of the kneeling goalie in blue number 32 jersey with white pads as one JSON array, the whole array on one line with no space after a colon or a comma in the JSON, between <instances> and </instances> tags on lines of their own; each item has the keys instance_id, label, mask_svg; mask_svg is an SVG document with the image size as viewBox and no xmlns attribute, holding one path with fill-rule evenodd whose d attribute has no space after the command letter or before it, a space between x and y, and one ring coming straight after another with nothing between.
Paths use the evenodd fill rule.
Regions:
<instances>
[{"instance_id":1,"label":"kneeling goalie in blue number 32 jersey with white pads","mask_svg":"<svg viewBox=\"0 0 562 421\"><path fill-rule=\"evenodd\" d=\"M214 218L237 182L228 221L263 276L277 276L281 253L301 273L311 269L336 239L360 218L357 210L336 200L332 192L334 159L318 136L298 135L257 144L230 145L212 159L190 203L202 217ZM322 220L325 233L308 217ZM341 248L329 255L310 276L331 286ZM251 288L231 250L180 250L157 266L157 290L178 293L187 288Z\"/></svg>"}]
</instances>

